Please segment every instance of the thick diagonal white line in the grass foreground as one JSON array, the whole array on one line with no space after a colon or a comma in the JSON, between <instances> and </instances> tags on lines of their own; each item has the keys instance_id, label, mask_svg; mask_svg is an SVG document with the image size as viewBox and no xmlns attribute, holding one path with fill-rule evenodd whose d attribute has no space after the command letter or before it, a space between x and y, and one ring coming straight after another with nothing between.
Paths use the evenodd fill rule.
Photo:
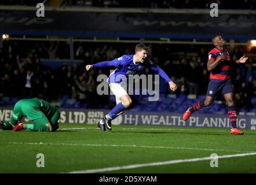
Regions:
<instances>
[{"instance_id":1,"label":"thick diagonal white line in the grass foreground","mask_svg":"<svg viewBox=\"0 0 256 185\"><path fill-rule=\"evenodd\" d=\"M218 158L244 157L244 156L255 156L255 155L256 155L256 152L218 156ZM206 160L212 160L212 159L213 157L189 158L185 160L170 160L170 161L162 161L162 162L151 162L151 163L145 163L145 164L133 164L133 165L127 165L127 166L114 166L109 168L87 169L83 171L71 171L68 173L99 173L99 172L118 171L122 169L141 168L141 167L147 167L147 166L160 166L160 165L168 165L168 164L179 164L183 162L206 161Z\"/></svg>"}]
</instances>

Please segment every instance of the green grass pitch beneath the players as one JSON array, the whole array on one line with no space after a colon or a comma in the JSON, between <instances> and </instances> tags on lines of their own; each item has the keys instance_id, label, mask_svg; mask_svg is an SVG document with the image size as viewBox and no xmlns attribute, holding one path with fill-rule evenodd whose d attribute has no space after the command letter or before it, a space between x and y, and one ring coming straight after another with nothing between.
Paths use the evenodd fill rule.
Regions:
<instances>
[{"instance_id":1,"label":"green grass pitch beneath the players","mask_svg":"<svg viewBox=\"0 0 256 185\"><path fill-rule=\"evenodd\" d=\"M61 124L52 133L1 130L0 173L256 173L255 154L234 156L256 152L256 131L244 131L113 125L101 132L87 124ZM36 166L42 160L38 153L44 155L43 168ZM212 168L211 160L200 160L212 153L231 157L219 158ZM176 162L158 164L166 161Z\"/></svg>"}]
</instances>

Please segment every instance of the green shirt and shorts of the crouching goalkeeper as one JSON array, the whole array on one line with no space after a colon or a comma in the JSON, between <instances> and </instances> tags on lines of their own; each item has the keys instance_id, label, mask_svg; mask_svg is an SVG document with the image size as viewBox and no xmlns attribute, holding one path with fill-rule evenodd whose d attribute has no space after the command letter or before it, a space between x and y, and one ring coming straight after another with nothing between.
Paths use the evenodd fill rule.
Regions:
<instances>
[{"instance_id":1,"label":"green shirt and shorts of the crouching goalkeeper","mask_svg":"<svg viewBox=\"0 0 256 185\"><path fill-rule=\"evenodd\" d=\"M58 109L55 106L42 99L21 99L14 105L10 122L16 125L24 116L30 121L42 117L51 118L56 112L58 112Z\"/></svg>"}]
</instances>

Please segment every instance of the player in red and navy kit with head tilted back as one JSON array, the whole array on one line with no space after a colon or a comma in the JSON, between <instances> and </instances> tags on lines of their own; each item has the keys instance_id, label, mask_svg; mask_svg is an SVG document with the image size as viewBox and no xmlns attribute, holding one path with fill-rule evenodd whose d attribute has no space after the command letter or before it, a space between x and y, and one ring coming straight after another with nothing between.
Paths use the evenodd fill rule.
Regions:
<instances>
[{"instance_id":1,"label":"player in red and navy kit with head tilted back","mask_svg":"<svg viewBox=\"0 0 256 185\"><path fill-rule=\"evenodd\" d=\"M183 114L183 120L186 121L189 116L196 110L211 105L217 92L221 92L226 104L228 105L228 115L232 128L230 134L244 134L236 127L236 108L234 103L234 90L229 75L231 69L231 57L228 50L225 49L226 42L221 35L217 35L212 39L214 49L208 54L207 69L210 71L210 82L207 90L206 99L199 101L196 105L188 108ZM244 63L248 57L241 57L236 63Z\"/></svg>"}]
</instances>

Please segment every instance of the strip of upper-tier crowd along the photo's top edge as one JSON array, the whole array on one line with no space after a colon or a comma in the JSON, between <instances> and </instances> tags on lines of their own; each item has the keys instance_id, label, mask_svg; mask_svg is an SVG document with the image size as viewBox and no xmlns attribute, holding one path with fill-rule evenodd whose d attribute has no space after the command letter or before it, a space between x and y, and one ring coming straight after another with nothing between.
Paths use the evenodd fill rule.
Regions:
<instances>
[{"instance_id":1,"label":"strip of upper-tier crowd along the photo's top edge","mask_svg":"<svg viewBox=\"0 0 256 185\"><path fill-rule=\"evenodd\" d=\"M2 0L0 5L28 5L35 6L36 3L41 1L30 1L30 0ZM206 0L206 1L195 1L195 0L57 0L57 1L46 1L46 5L50 6L84 6L84 7L101 7L101 8L199 8L208 9L211 3L217 3L220 9L255 9L255 0L237 0L236 3L230 3L223 0Z\"/></svg>"}]
</instances>

